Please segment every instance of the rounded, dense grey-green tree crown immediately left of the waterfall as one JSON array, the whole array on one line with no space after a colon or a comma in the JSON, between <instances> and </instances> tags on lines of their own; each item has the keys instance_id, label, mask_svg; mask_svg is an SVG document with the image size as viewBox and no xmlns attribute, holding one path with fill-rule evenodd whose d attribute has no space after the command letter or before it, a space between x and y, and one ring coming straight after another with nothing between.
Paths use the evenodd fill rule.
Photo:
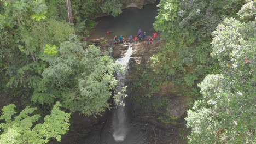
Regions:
<instances>
[{"instance_id":1,"label":"rounded, dense grey-green tree crown immediately left of the waterfall","mask_svg":"<svg viewBox=\"0 0 256 144\"><path fill-rule=\"evenodd\" d=\"M72 112L101 113L117 85L114 59L102 56L99 47L86 46L75 35L60 45L59 56L43 58L50 66L43 70L32 100L40 103L62 101Z\"/></svg>"}]
</instances>

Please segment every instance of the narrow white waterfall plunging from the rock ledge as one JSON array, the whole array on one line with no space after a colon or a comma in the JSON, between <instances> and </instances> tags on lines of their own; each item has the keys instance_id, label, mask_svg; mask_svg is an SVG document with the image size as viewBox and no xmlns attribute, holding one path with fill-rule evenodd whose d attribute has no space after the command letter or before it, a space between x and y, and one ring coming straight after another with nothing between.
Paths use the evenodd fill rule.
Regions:
<instances>
[{"instance_id":1,"label":"narrow white waterfall plunging from the rock ledge","mask_svg":"<svg viewBox=\"0 0 256 144\"><path fill-rule=\"evenodd\" d=\"M121 92L122 90L121 87L124 87L126 74L129 69L128 63L131 55L132 55L132 45L129 44L129 48L126 51L124 57L119 58L116 61L121 65L121 67L123 67L123 71L118 71L118 70L116 71L116 78L118 80L118 87L117 87L118 92ZM114 111L112 126L114 130L113 137L115 141L123 141L128 131L124 105L118 105L117 110Z\"/></svg>"}]
</instances>

